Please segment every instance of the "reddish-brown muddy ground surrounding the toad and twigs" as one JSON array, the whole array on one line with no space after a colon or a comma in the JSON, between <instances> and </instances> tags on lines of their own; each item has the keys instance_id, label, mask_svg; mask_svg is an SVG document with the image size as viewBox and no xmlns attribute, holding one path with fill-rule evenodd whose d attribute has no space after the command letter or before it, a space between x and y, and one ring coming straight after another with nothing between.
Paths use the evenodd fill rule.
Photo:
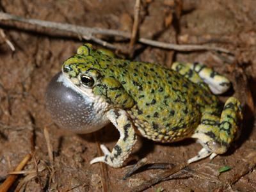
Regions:
<instances>
[{"instance_id":1,"label":"reddish-brown muddy ground surrounding the toad and twigs","mask_svg":"<svg viewBox=\"0 0 256 192\"><path fill-rule=\"evenodd\" d=\"M131 31L134 3L125 0L2 0L0 8L31 19ZM163 63L167 67L173 61L206 63L232 80L234 92L221 95L221 100L235 93L245 111L241 137L227 154L212 161L193 163L174 179L160 182L146 191L256 191L255 7L255 0L142 1L141 37L173 44L214 45L228 49L233 55L216 51L173 51L136 44L132 59ZM109 148L115 145L118 140L115 127L109 125L86 135L65 132L53 124L44 100L47 83L82 40L29 24L0 23L6 38L15 47L12 52L3 35L0 37L0 184L30 152L33 158L24 168L26 174L20 175L10 191L135 191L136 186L164 172L145 170L123 180L131 166L90 165L90 160L99 156L99 143ZM128 41L118 38L105 37L104 40L121 47L129 45ZM49 158L44 127L49 131L54 161ZM177 165L195 156L200 148L193 140L163 145L139 138L132 157L147 157L148 163ZM129 164L134 163L136 161L132 160ZM230 166L231 170L220 173L218 170L223 166Z\"/></svg>"}]
</instances>

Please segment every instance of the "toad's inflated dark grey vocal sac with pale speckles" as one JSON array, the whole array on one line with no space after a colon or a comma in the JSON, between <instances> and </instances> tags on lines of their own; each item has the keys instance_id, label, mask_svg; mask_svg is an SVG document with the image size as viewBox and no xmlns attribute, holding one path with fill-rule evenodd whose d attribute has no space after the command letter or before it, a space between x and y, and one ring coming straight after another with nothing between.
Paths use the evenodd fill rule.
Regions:
<instances>
[{"instance_id":1,"label":"toad's inflated dark grey vocal sac with pale speckles","mask_svg":"<svg viewBox=\"0 0 256 192\"><path fill-rule=\"evenodd\" d=\"M89 133L109 123L95 101L77 92L62 72L56 74L48 84L45 104L52 120L69 131Z\"/></svg>"}]
</instances>

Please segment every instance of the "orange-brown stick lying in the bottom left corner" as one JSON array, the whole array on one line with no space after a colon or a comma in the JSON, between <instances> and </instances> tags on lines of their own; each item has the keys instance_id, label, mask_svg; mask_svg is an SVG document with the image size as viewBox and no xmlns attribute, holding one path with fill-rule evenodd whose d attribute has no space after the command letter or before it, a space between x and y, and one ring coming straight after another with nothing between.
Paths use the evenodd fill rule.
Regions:
<instances>
[{"instance_id":1,"label":"orange-brown stick lying in the bottom left corner","mask_svg":"<svg viewBox=\"0 0 256 192\"><path fill-rule=\"evenodd\" d=\"M31 159L31 154L27 154L22 161L20 161L19 165L15 168L15 172L21 171L24 166ZM1 192L6 192L12 186L13 182L17 179L18 175L9 175L6 180L4 180L3 184L0 186Z\"/></svg>"}]
</instances>

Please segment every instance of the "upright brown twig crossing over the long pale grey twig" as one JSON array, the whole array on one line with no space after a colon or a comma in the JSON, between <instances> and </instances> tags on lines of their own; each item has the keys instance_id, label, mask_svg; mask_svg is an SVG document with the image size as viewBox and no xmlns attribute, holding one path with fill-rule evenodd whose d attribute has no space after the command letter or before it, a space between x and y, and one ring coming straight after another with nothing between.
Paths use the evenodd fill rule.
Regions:
<instances>
[{"instance_id":1,"label":"upright brown twig crossing over the long pale grey twig","mask_svg":"<svg viewBox=\"0 0 256 192\"><path fill-rule=\"evenodd\" d=\"M134 53L134 44L136 42L136 38L138 35L139 23L140 23L140 0L136 0L135 6L134 6L134 22L132 26L132 34L131 34L131 40L129 44L129 53L131 58Z\"/></svg>"}]
</instances>

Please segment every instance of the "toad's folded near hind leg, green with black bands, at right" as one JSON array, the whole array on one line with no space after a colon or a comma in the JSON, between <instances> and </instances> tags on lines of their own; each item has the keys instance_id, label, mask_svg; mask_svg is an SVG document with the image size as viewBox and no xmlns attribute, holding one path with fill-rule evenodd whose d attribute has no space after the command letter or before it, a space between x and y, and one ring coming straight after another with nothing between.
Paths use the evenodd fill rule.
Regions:
<instances>
[{"instance_id":1,"label":"toad's folded near hind leg, green with black bands, at right","mask_svg":"<svg viewBox=\"0 0 256 192\"><path fill-rule=\"evenodd\" d=\"M225 153L230 143L239 136L239 122L242 118L241 104L234 97L227 100L220 118L218 117L218 111L206 109L202 115L200 125L192 136L198 139L204 148L198 152L197 156L189 159L188 163L207 156L212 159L217 154Z\"/></svg>"}]
</instances>

